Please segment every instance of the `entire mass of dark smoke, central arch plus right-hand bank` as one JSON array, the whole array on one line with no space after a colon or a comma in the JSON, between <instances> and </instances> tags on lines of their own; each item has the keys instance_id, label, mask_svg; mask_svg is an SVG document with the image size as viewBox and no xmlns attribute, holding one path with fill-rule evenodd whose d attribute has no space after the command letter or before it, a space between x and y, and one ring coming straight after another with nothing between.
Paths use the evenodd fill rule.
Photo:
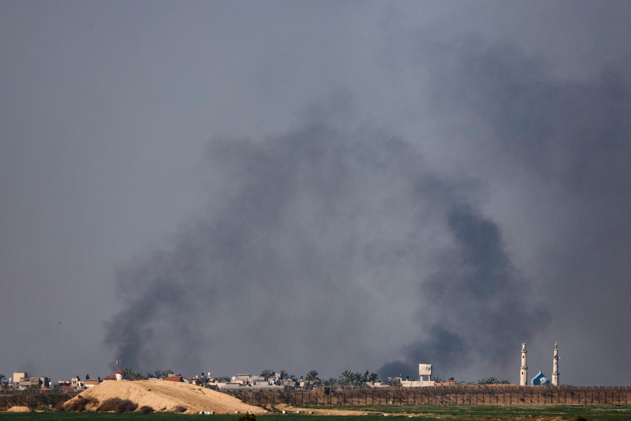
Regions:
<instances>
[{"instance_id":1,"label":"entire mass of dark smoke, central arch plus right-hand bank","mask_svg":"<svg viewBox=\"0 0 631 421\"><path fill-rule=\"evenodd\" d=\"M211 142L208 212L120 272L126 365L509 377L540 334L627 348L628 58L568 82L513 46L421 38L390 37L428 79L391 116L404 135L342 92L278 137Z\"/></svg>"}]
</instances>

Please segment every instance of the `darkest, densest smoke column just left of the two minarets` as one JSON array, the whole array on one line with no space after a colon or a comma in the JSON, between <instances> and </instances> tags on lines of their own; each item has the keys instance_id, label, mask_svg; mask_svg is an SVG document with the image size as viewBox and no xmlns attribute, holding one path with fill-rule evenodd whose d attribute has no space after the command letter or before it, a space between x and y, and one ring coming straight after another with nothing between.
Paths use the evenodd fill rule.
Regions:
<instances>
[{"instance_id":1,"label":"darkest, densest smoke column just left of the two minarets","mask_svg":"<svg viewBox=\"0 0 631 421\"><path fill-rule=\"evenodd\" d=\"M440 372L481 359L501 367L512 357L507 345L531 337L547 322L546 311L526 300L526 280L507 257L497 225L468 207L451 210L447 225L457 246L445 252L442 267L420 287L440 317L428 326L420 314L427 339L406 347L404 360L384 365L384 378L416 379L420 362L432 362Z\"/></svg>"}]
</instances>

